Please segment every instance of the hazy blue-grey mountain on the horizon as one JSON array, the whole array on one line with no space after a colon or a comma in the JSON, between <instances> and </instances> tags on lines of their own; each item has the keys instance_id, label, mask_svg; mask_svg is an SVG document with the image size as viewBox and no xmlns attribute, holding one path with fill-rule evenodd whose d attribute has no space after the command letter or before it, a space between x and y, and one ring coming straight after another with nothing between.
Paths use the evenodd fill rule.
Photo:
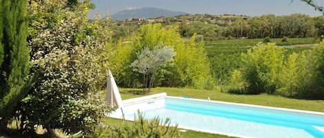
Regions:
<instances>
[{"instance_id":1,"label":"hazy blue-grey mountain on the horizon","mask_svg":"<svg viewBox=\"0 0 324 138\"><path fill-rule=\"evenodd\" d=\"M189 14L185 12L173 12L169 10L164 10L160 8L132 8L128 10L122 10L121 12L117 12L116 14L111 15L111 19L113 20L125 20L132 18L156 18L158 16L177 16L182 14Z\"/></svg>"}]
</instances>

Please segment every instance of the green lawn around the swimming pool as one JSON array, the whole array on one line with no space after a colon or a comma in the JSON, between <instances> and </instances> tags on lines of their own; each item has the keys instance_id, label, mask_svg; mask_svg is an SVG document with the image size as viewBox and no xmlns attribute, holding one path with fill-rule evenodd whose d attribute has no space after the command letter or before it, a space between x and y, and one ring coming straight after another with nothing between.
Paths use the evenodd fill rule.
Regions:
<instances>
[{"instance_id":1,"label":"green lawn around the swimming pool","mask_svg":"<svg viewBox=\"0 0 324 138\"><path fill-rule=\"evenodd\" d=\"M262 106L274 106L281 108L293 108L307 111L324 112L324 100L297 100L289 99L286 97L280 97L278 95L235 95L230 93L221 93L220 91L198 90L198 89L186 89L186 88L154 88L151 93L139 94L142 89L120 89L122 99L130 99L133 97L142 97L144 95L151 95L155 93L166 92L168 95L173 96L188 96L191 98L207 99L224 101L224 102L236 102L244 104L256 104ZM120 119L106 118L104 124L116 125L120 123ZM181 133L181 132L180 132ZM225 135L216 135L210 133L201 133L192 130L188 130L186 133L181 133L182 137L227 137Z\"/></svg>"}]
</instances>

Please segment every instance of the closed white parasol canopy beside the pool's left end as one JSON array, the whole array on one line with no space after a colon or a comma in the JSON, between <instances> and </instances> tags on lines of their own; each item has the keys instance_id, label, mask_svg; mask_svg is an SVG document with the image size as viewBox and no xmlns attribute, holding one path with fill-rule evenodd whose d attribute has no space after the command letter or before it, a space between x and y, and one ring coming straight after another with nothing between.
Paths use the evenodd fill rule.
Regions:
<instances>
[{"instance_id":1,"label":"closed white parasol canopy beside the pool's left end","mask_svg":"<svg viewBox=\"0 0 324 138\"><path fill-rule=\"evenodd\" d=\"M120 96L120 91L118 90L117 84L113 79L113 74L111 70L108 69L108 81L107 81L107 92L105 100L111 104L113 107L122 107L122 97Z\"/></svg>"}]
</instances>

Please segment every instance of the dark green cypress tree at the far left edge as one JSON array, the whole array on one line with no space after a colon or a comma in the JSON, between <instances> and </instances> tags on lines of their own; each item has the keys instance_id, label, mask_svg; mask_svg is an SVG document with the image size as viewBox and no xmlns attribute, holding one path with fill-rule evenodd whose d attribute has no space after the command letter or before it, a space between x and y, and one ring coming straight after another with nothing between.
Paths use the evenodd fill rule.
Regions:
<instances>
[{"instance_id":1,"label":"dark green cypress tree at the far left edge","mask_svg":"<svg viewBox=\"0 0 324 138\"><path fill-rule=\"evenodd\" d=\"M0 0L0 129L30 87L26 4L27 0Z\"/></svg>"}]
</instances>

